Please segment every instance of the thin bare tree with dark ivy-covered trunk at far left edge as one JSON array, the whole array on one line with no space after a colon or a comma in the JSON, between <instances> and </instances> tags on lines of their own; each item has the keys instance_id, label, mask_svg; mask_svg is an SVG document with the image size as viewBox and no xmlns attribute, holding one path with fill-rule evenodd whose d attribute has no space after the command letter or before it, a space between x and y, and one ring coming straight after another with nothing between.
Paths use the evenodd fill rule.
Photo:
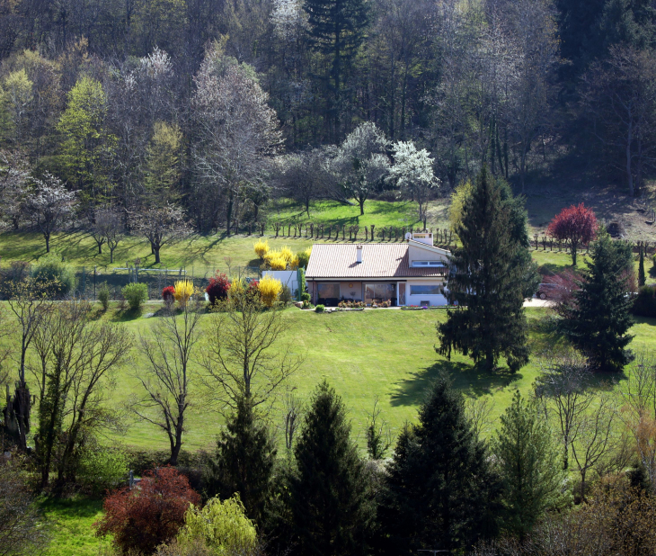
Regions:
<instances>
[{"instance_id":1,"label":"thin bare tree with dark ivy-covered trunk at far left edge","mask_svg":"<svg viewBox=\"0 0 656 556\"><path fill-rule=\"evenodd\" d=\"M48 284L26 278L21 282L8 282L5 287L9 309L15 318L14 330L20 336L18 381L11 409L18 446L26 450L27 435L30 432L31 395L25 381L25 368L28 349L50 309Z\"/></svg>"}]
</instances>

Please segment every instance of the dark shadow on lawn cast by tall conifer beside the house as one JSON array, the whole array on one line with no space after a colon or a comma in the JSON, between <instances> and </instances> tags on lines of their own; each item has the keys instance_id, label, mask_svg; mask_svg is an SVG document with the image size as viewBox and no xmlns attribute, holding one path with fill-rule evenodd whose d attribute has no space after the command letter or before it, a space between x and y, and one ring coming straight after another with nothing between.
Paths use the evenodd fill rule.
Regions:
<instances>
[{"instance_id":1,"label":"dark shadow on lawn cast by tall conifer beside the house","mask_svg":"<svg viewBox=\"0 0 656 556\"><path fill-rule=\"evenodd\" d=\"M511 382L523 378L520 373L510 373L507 369L489 372L483 369L481 364L438 361L430 367L412 373L411 378L397 382L397 390L392 394L392 406L421 404L430 390L430 384L438 378L441 372L448 373L454 381L454 388L472 396L489 394L492 389L504 388Z\"/></svg>"}]
</instances>

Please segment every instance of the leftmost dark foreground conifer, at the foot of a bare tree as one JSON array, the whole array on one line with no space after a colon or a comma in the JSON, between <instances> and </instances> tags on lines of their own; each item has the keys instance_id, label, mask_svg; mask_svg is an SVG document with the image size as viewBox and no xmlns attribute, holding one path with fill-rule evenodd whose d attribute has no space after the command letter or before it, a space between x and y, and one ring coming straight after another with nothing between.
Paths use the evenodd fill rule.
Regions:
<instances>
[{"instance_id":1,"label":"leftmost dark foreground conifer, at the foot of a bare tree","mask_svg":"<svg viewBox=\"0 0 656 556\"><path fill-rule=\"evenodd\" d=\"M216 459L209 462L208 494L225 499L238 492L246 515L262 523L276 453L269 429L253 405L240 399L217 441Z\"/></svg>"}]
</instances>

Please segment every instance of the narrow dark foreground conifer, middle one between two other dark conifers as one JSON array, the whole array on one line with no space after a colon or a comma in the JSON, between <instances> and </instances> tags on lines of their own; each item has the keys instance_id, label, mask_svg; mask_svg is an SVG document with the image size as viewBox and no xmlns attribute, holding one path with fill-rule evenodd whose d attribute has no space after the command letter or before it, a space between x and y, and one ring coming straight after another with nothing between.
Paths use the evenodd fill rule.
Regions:
<instances>
[{"instance_id":1,"label":"narrow dark foreground conifer, middle one between two other dark conifers","mask_svg":"<svg viewBox=\"0 0 656 556\"><path fill-rule=\"evenodd\" d=\"M289 493L298 553L364 554L373 514L364 462L350 441L346 408L325 381L315 390L294 455Z\"/></svg>"}]
</instances>

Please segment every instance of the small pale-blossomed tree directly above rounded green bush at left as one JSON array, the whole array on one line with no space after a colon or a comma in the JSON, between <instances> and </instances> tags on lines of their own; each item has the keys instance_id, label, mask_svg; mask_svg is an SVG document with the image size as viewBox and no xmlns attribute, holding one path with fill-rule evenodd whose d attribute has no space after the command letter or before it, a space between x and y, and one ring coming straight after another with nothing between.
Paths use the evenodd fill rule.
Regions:
<instances>
[{"instance_id":1,"label":"small pale-blossomed tree directly above rounded green bush at left","mask_svg":"<svg viewBox=\"0 0 656 556\"><path fill-rule=\"evenodd\" d=\"M34 187L25 201L25 211L36 220L43 238L46 253L50 252L50 236L75 209L75 193L69 192L62 181L51 174L34 180Z\"/></svg>"}]
</instances>

